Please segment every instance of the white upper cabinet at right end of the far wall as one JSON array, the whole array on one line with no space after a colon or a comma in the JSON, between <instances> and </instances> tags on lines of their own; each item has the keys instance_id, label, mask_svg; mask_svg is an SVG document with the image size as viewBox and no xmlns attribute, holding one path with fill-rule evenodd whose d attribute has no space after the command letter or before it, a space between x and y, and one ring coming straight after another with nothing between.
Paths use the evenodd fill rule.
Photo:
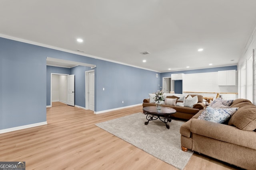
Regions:
<instances>
[{"instance_id":1,"label":"white upper cabinet at right end of the far wall","mask_svg":"<svg viewBox=\"0 0 256 170\"><path fill-rule=\"evenodd\" d=\"M219 86L236 86L236 70L218 71Z\"/></svg>"}]
</instances>

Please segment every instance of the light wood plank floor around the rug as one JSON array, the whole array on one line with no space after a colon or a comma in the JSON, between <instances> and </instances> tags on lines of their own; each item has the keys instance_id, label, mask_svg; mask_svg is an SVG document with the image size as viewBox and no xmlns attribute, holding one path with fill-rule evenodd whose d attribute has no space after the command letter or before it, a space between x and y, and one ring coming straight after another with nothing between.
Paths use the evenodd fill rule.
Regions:
<instances>
[{"instance_id":1,"label":"light wood plank floor around the rug","mask_svg":"<svg viewBox=\"0 0 256 170\"><path fill-rule=\"evenodd\" d=\"M47 125L0 134L0 161L25 161L26 170L176 170L94 125L138 112L142 106L97 115L62 104L49 107ZM194 153L184 170L229 169L237 168Z\"/></svg>"}]
</instances>

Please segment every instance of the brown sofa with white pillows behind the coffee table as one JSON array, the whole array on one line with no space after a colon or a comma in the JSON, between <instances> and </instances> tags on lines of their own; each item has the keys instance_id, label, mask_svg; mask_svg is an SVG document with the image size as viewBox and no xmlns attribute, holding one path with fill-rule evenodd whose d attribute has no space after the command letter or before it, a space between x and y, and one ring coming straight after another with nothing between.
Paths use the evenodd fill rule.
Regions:
<instances>
[{"instance_id":1,"label":"brown sofa with white pillows behind the coffee table","mask_svg":"<svg viewBox=\"0 0 256 170\"><path fill-rule=\"evenodd\" d=\"M194 94L189 94L191 97L197 96L198 97L198 103L193 106L193 108L190 107L183 107L183 106L172 106L172 105L165 105L162 104L162 106L165 107L172 107L173 109L176 110L176 113L172 114L172 118L179 118L179 119L186 119L189 120L191 119L198 111L204 109L205 104L203 103L203 96L202 95L194 95ZM189 96L188 95L188 96ZM166 98L177 98L176 96L167 96ZM143 107L147 106L156 106L155 103L150 103L149 99L144 99L143 100Z\"/></svg>"}]
</instances>

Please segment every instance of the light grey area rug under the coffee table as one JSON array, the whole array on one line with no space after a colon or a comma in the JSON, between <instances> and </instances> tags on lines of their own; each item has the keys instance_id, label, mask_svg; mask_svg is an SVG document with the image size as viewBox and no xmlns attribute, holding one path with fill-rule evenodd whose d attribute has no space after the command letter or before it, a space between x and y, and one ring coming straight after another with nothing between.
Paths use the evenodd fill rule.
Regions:
<instances>
[{"instance_id":1,"label":"light grey area rug under the coffee table","mask_svg":"<svg viewBox=\"0 0 256 170\"><path fill-rule=\"evenodd\" d=\"M146 115L134 113L95 124L120 139L144 150L164 162L183 170L193 152L180 148L180 126L183 121L168 122L170 129L160 120L145 125Z\"/></svg>"}]
</instances>

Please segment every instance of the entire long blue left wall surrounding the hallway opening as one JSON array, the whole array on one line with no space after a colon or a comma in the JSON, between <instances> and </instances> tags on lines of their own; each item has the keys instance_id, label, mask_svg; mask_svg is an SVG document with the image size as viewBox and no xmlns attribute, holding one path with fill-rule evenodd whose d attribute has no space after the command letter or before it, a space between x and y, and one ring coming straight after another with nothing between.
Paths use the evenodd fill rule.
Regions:
<instances>
[{"instance_id":1,"label":"entire long blue left wall surrounding the hallway opening","mask_svg":"<svg viewBox=\"0 0 256 170\"><path fill-rule=\"evenodd\" d=\"M48 75L50 72L69 72L58 72L58 69L50 67L46 70L46 57L97 66L95 111L141 104L144 98L148 98L149 92L159 89L161 79L156 78L157 72L0 38L0 130L46 121L46 106L50 105ZM83 75L77 73L80 69ZM85 70L88 69L73 68L70 74L84 77ZM75 79L78 80L76 84L81 86L76 88L85 89L85 81ZM84 107L84 92L76 94L75 101L76 105Z\"/></svg>"}]
</instances>

